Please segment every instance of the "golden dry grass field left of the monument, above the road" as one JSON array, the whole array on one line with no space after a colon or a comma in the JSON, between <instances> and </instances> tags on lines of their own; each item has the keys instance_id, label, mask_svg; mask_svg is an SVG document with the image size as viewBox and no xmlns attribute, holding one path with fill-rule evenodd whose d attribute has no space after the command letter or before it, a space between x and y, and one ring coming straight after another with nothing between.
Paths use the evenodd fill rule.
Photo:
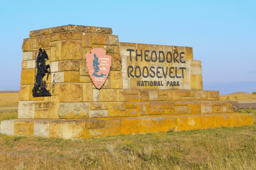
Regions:
<instances>
[{"instance_id":1,"label":"golden dry grass field left of the monument, above the road","mask_svg":"<svg viewBox=\"0 0 256 170\"><path fill-rule=\"evenodd\" d=\"M0 107L18 107L18 104L19 104L18 93L0 94Z\"/></svg>"}]
</instances>

